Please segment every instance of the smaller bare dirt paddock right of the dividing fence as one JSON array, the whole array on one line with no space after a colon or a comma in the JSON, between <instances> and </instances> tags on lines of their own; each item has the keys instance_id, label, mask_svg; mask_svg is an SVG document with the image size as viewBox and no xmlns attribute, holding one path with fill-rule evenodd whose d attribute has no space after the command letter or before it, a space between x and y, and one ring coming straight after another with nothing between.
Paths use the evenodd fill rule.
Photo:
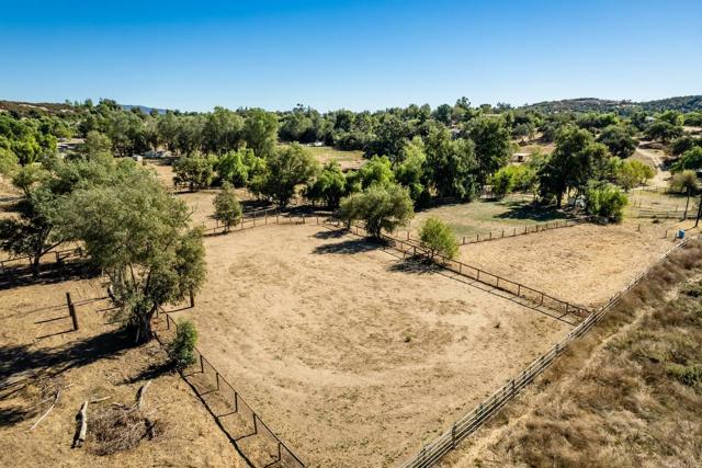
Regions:
<instances>
[{"instance_id":1,"label":"smaller bare dirt paddock right of the dividing fence","mask_svg":"<svg viewBox=\"0 0 702 468\"><path fill-rule=\"evenodd\" d=\"M648 219L610 226L584 224L462 246L460 255L469 265L592 308L607 303L670 249L675 231L691 225Z\"/></svg>"}]
</instances>

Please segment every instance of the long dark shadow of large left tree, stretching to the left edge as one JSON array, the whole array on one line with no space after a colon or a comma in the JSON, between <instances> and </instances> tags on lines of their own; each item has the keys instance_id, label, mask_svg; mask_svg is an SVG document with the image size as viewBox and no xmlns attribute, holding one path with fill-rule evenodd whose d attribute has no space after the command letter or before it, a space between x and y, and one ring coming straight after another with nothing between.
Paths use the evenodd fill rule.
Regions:
<instances>
[{"instance_id":1,"label":"long dark shadow of large left tree, stretching to the left edge","mask_svg":"<svg viewBox=\"0 0 702 468\"><path fill-rule=\"evenodd\" d=\"M33 376L49 367L59 374L99 359L114 358L133 346L133 336L122 329L54 349L32 349L31 344L0 346L0 388L11 377Z\"/></svg>"}]
</instances>

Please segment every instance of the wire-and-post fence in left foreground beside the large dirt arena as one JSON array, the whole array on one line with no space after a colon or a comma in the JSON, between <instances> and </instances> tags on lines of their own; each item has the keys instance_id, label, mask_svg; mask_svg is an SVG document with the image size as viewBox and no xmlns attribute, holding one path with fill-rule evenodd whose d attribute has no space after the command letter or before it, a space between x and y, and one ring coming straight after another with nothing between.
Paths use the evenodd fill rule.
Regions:
<instances>
[{"instance_id":1,"label":"wire-and-post fence in left foreground beside the large dirt arena","mask_svg":"<svg viewBox=\"0 0 702 468\"><path fill-rule=\"evenodd\" d=\"M155 334L158 341L165 344L176 335L178 323L163 310L158 317L165 317L166 329L160 329ZM195 364L183 369L181 375L196 391L219 429L248 464L254 468L304 468L305 464L299 457L275 435L196 347L194 357Z\"/></svg>"}]
</instances>

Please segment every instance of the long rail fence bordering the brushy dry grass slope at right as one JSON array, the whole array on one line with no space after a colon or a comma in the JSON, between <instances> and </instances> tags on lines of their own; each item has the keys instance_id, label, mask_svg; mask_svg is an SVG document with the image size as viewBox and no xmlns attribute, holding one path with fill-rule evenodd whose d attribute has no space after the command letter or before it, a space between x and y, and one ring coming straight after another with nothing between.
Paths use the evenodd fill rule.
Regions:
<instances>
[{"instance_id":1,"label":"long rail fence bordering the brushy dry grass slope at right","mask_svg":"<svg viewBox=\"0 0 702 468\"><path fill-rule=\"evenodd\" d=\"M699 237L699 236L698 236ZM644 273L636 276L626 287L616 293L605 305L590 313L578 327L573 329L565 339L557 342L552 349L546 351L530 365L528 365L519 375L508 381L499 390L492 393L488 399L479 403L473 411L456 421L446 432L441 434L431 443L424 445L421 450L411 459L400 465L401 468L427 468L435 465L444 455L454 449L456 445L468 435L477 431L490 416L495 415L502 407L512 400L521 389L526 387L539 375L551 366L551 364L563 354L575 340L587 333L595 327L605 312L616 305L622 296L636 286L650 270L663 263L672 252L687 244L691 238L676 244L668 250L654 265L648 267Z\"/></svg>"}]
</instances>

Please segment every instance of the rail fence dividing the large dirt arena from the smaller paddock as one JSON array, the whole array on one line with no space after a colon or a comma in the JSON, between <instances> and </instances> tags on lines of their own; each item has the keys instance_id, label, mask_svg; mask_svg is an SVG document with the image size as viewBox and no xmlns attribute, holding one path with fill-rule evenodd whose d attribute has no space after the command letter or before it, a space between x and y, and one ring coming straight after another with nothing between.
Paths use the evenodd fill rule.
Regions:
<instances>
[{"instance_id":1,"label":"rail fence dividing the large dirt arena from the smaller paddock","mask_svg":"<svg viewBox=\"0 0 702 468\"><path fill-rule=\"evenodd\" d=\"M341 224L340 221L336 221L336 224L333 224L332 226L340 227ZM351 232L355 232L359 236L367 235L365 229L358 224L351 226L350 230ZM421 246L417 246L416 243L407 242L405 240L396 239L392 236L386 235L383 235L382 237L389 247L401 252L403 258L405 258L406 255L423 256L424 259L433 261L439 266L456 273L461 276L467 277L469 279L475 279L478 283L483 283L496 289L503 290L512 296L525 299L534 304L535 306L543 306L558 313L563 313L564 316L574 315L576 317L585 318L590 313L589 310L581 306L577 306L566 300L558 299L547 293L526 286L522 283L508 279L503 276L496 275L495 273L486 272L485 270L478 269L477 266L468 265L457 260L448 259L440 254L432 255L432 253L428 249Z\"/></svg>"}]
</instances>

